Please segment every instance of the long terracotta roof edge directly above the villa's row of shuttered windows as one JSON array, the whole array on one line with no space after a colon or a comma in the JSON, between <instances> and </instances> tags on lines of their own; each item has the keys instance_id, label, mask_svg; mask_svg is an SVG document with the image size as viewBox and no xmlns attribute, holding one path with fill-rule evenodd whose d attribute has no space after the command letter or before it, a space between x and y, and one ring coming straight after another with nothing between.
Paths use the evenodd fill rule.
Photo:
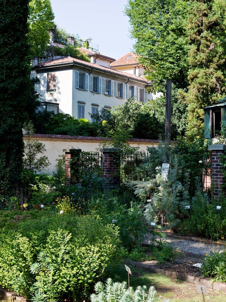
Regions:
<instances>
[{"instance_id":1,"label":"long terracotta roof edge directly above the villa's row of shuttered windows","mask_svg":"<svg viewBox=\"0 0 226 302\"><path fill-rule=\"evenodd\" d=\"M48 66L55 66L55 65L62 65L62 64L66 64L66 63L72 63L72 64L75 63L75 64L78 64L78 65L93 67L94 69L101 70L101 71L104 71L104 72L109 72L109 73L114 74L116 76L123 76L124 78L127 78L127 79L129 78L129 79L140 81L140 82L143 82L144 84L147 84L147 80L144 79L143 77L133 76L132 74L127 73L127 72L122 72L122 71L118 71L118 70L113 69L113 68L100 66L100 65L90 63L90 62L86 62L86 61L83 61L83 60L80 60L80 59L75 59L71 56L66 56L66 57L62 57L62 58L59 58L59 59L54 59L54 60L51 60L51 61L46 61L46 62L40 63L38 65L35 65L33 67L33 69L45 68L45 67L48 67Z\"/></svg>"}]
</instances>

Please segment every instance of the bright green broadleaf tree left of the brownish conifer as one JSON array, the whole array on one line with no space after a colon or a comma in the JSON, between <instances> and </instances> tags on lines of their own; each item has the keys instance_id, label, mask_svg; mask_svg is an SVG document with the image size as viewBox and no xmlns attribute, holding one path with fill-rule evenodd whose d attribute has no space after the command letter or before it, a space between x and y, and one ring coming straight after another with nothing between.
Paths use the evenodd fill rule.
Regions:
<instances>
[{"instance_id":1,"label":"bright green broadleaf tree left of the brownish conifer","mask_svg":"<svg viewBox=\"0 0 226 302\"><path fill-rule=\"evenodd\" d=\"M188 41L184 24L189 2L184 0L129 0L125 13L130 18L134 49L141 55L153 91L162 91L166 79L177 88L187 86ZM162 91L164 92L164 91Z\"/></svg>"}]
</instances>

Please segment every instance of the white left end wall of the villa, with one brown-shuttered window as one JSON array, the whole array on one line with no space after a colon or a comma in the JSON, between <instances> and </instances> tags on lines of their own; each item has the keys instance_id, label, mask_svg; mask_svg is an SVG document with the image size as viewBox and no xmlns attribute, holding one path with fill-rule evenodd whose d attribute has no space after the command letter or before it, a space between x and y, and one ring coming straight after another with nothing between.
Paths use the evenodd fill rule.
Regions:
<instances>
[{"instance_id":1,"label":"white left end wall of the villa, with one brown-shuttered window","mask_svg":"<svg viewBox=\"0 0 226 302\"><path fill-rule=\"evenodd\" d=\"M37 92L41 98L59 104L59 113L72 115L72 69L62 69L61 71L51 71L56 73L56 91L54 97L49 98L47 88L47 72L38 72L37 77L40 84L36 85Z\"/></svg>"}]
</instances>

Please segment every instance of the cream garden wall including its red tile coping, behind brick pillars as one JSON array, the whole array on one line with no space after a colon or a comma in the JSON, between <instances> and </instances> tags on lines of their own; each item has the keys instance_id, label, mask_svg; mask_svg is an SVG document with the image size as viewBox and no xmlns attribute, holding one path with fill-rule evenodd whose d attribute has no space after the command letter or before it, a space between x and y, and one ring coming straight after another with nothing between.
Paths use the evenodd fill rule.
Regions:
<instances>
[{"instance_id":1,"label":"cream garden wall including its red tile coping, behind brick pillars","mask_svg":"<svg viewBox=\"0 0 226 302\"><path fill-rule=\"evenodd\" d=\"M97 151L99 144L109 141L109 138L103 137L76 137L69 135L52 135L52 134L34 134L33 139L39 140L46 146L46 152L42 155L48 156L50 165L45 172L52 173L55 171L56 159L59 155L63 155L63 149L80 148L82 151ZM24 137L26 140L26 137ZM147 139L130 139L130 146L139 146L140 151L147 151L148 146L157 147L158 140Z\"/></svg>"}]
</instances>

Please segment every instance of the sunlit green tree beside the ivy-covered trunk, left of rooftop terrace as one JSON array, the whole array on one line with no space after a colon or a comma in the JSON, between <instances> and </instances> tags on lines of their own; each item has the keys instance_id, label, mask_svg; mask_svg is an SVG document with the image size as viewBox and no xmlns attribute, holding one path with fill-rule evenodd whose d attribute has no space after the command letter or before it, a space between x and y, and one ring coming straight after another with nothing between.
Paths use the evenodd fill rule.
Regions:
<instances>
[{"instance_id":1,"label":"sunlit green tree beside the ivy-covered trunk, left of rooftop terrace","mask_svg":"<svg viewBox=\"0 0 226 302\"><path fill-rule=\"evenodd\" d=\"M30 56L43 56L49 43L49 29L54 27L54 14L50 0L30 0L28 16L28 42Z\"/></svg>"}]
</instances>

